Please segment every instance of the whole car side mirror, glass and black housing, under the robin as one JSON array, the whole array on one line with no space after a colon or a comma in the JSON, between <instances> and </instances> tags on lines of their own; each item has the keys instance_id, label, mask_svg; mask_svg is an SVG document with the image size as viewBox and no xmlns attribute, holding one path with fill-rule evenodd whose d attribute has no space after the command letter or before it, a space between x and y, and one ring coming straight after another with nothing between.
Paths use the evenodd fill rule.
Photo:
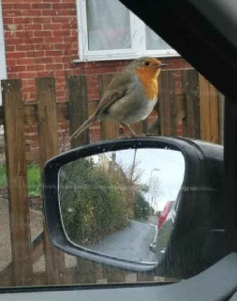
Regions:
<instances>
[{"instance_id":1,"label":"whole car side mirror, glass and black housing, under the robin","mask_svg":"<svg viewBox=\"0 0 237 301\"><path fill-rule=\"evenodd\" d=\"M195 275L225 252L213 250L223 237L222 172L223 148L200 141L149 137L78 147L44 166L49 237L64 252L96 262ZM155 213L166 198L174 209L158 231Z\"/></svg>"}]
</instances>

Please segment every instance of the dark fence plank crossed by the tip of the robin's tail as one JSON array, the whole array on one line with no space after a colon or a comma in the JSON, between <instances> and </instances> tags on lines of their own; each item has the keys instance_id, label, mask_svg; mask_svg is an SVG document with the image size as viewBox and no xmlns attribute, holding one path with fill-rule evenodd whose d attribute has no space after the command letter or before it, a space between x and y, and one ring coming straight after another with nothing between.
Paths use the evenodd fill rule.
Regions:
<instances>
[{"instance_id":1,"label":"dark fence plank crossed by the tip of the robin's tail","mask_svg":"<svg viewBox=\"0 0 237 301\"><path fill-rule=\"evenodd\" d=\"M88 100L86 77L70 76L67 79L70 135L88 118ZM89 144L89 128L71 140L71 147Z\"/></svg>"}]
</instances>

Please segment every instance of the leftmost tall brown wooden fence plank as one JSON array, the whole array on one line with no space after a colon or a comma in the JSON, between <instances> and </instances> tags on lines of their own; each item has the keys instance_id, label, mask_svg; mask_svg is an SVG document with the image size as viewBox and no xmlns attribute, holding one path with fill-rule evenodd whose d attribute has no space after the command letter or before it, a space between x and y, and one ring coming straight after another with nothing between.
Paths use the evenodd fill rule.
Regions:
<instances>
[{"instance_id":1,"label":"leftmost tall brown wooden fence plank","mask_svg":"<svg viewBox=\"0 0 237 301\"><path fill-rule=\"evenodd\" d=\"M21 81L18 79L2 81L14 285L30 284L32 279L21 88Z\"/></svg>"}]
</instances>

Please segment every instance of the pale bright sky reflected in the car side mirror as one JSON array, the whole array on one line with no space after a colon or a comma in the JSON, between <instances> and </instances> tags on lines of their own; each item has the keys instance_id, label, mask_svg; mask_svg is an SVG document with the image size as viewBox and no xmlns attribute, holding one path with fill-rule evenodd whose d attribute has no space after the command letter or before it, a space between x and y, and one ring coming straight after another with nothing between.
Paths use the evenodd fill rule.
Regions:
<instances>
[{"instance_id":1,"label":"pale bright sky reflected in the car side mirror","mask_svg":"<svg viewBox=\"0 0 237 301\"><path fill-rule=\"evenodd\" d=\"M123 169L131 166L135 155L134 149L114 153L116 163ZM104 155L111 158L112 152ZM184 157L181 152L170 149L137 149L135 162L141 171L139 184L149 185L151 173L152 178L159 179L162 195L156 199L156 210L162 210L168 200L176 199L184 178ZM149 201L149 194L144 196Z\"/></svg>"}]
</instances>

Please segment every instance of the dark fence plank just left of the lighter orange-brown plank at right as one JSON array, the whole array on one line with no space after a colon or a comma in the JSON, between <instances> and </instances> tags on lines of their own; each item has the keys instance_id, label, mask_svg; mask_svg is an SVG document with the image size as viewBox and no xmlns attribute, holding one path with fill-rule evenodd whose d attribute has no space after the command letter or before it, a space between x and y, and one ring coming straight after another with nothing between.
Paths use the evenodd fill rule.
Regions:
<instances>
[{"instance_id":1,"label":"dark fence plank just left of the lighter orange-brown plank at right","mask_svg":"<svg viewBox=\"0 0 237 301\"><path fill-rule=\"evenodd\" d=\"M184 93L185 137L200 138L199 75L194 69L181 70Z\"/></svg>"}]
</instances>

